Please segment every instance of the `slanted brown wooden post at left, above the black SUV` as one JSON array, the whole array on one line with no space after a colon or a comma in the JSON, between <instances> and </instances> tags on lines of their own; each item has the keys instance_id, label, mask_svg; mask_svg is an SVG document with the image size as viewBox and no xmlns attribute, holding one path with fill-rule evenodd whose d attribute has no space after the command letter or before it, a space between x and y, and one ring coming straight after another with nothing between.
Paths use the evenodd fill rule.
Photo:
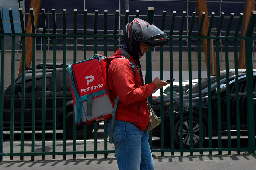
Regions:
<instances>
[{"instance_id":1,"label":"slanted brown wooden post at left, above the black SUV","mask_svg":"<svg viewBox=\"0 0 256 170\"><path fill-rule=\"evenodd\" d=\"M35 20L35 26L37 27L38 23L38 16L39 16L39 11L40 11L40 5L41 5L41 0L31 0L30 2L30 8L33 8L34 10L34 20ZM27 22L27 27L26 27L26 33L32 33L32 26L31 26L31 18L30 18L30 11L28 14L28 22ZM30 67L31 65L31 60L32 60L32 37L26 37L26 42L25 42L25 66ZM24 50L24 47L22 47L22 50ZM21 74L21 68L22 64L20 61L20 70L19 70L19 75Z\"/></svg>"}]
</instances>

